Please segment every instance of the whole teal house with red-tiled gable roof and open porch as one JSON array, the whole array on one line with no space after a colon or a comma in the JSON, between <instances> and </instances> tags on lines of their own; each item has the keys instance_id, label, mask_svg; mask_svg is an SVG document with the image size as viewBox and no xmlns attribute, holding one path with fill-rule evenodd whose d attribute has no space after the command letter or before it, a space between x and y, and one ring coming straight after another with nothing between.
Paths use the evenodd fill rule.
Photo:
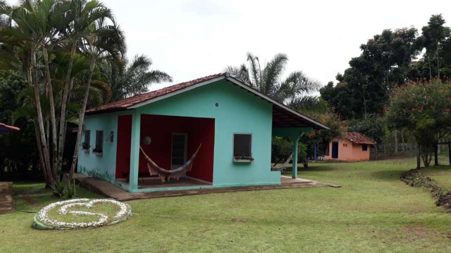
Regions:
<instances>
[{"instance_id":1,"label":"whole teal house with red-tiled gable roof and open porch","mask_svg":"<svg viewBox=\"0 0 451 253\"><path fill-rule=\"evenodd\" d=\"M289 136L297 160L314 128L327 126L219 73L87 110L77 169L130 192L280 184L272 136Z\"/></svg>"}]
</instances>

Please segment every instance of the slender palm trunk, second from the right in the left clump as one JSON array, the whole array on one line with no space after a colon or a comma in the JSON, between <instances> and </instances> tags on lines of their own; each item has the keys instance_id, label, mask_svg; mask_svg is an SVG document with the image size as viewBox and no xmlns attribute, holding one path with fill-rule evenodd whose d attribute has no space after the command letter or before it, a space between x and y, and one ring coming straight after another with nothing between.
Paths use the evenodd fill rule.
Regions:
<instances>
[{"instance_id":1,"label":"slender palm trunk, second from the right in the left clump","mask_svg":"<svg viewBox=\"0 0 451 253\"><path fill-rule=\"evenodd\" d=\"M57 155L57 168L60 171L62 170L62 165L63 165L64 142L65 142L65 138L66 138L66 107L67 107L68 94L69 94L69 84L72 81L71 74L72 74L72 66L74 64L74 58L75 58L75 49L76 49L75 41L72 41L72 49L71 49L71 54L70 54L70 59L69 59L69 66L67 69L66 80L64 81L64 89L63 89L63 94L62 94L62 98L61 98L60 136L59 136L59 142L58 142L58 155Z\"/></svg>"}]
</instances>

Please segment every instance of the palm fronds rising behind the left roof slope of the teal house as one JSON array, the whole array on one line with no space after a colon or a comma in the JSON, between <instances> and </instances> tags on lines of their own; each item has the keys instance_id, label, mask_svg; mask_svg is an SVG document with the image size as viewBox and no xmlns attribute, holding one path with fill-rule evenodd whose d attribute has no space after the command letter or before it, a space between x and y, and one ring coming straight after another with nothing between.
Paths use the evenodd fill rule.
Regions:
<instances>
[{"instance_id":1,"label":"palm fronds rising behind the left roof slope of the teal house","mask_svg":"<svg viewBox=\"0 0 451 253\"><path fill-rule=\"evenodd\" d=\"M152 60L145 55L135 55L130 62L126 59L123 61L126 64L125 68L117 67L111 61L99 64L100 71L110 85L111 101L147 92L152 83L172 81L172 77L166 72L149 69Z\"/></svg>"}]
</instances>

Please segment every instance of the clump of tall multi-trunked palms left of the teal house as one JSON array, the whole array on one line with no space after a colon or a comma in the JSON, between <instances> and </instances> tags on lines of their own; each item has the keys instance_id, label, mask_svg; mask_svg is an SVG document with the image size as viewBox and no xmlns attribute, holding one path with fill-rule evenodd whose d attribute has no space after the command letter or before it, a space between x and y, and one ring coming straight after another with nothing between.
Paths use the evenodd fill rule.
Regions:
<instances>
[{"instance_id":1,"label":"clump of tall multi-trunked palms left of the teal house","mask_svg":"<svg viewBox=\"0 0 451 253\"><path fill-rule=\"evenodd\" d=\"M0 48L0 67L16 67L26 71L34 93L41 166L50 186L54 186L60 177L71 88L78 88L74 90L76 93L84 86L80 85L80 79L88 80L84 86L84 98L95 88L108 89L97 81L95 88L91 88L95 62L105 55L119 55L115 51L124 49L116 46L116 41L123 40L123 35L115 25L99 25L106 20L114 24L111 11L97 0L20 0L14 6L0 0L0 44L3 44ZM93 49L108 47L111 50ZM86 68L82 70L88 73L88 78L78 75L75 79L73 64L80 53L90 62L89 71ZM58 58L58 54L63 57ZM22 67L18 67L18 63ZM44 104L48 102L49 110L43 109L43 98ZM83 100L81 119L87 103L87 99Z\"/></svg>"}]
</instances>

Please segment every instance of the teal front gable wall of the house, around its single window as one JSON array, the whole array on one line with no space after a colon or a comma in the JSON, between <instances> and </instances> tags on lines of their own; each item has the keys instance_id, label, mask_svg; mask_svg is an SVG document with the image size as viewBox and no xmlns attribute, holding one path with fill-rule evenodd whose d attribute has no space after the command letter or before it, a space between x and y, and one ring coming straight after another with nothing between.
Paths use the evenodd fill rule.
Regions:
<instances>
[{"instance_id":1,"label":"teal front gable wall of the house, around its single window","mask_svg":"<svg viewBox=\"0 0 451 253\"><path fill-rule=\"evenodd\" d=\"M272 104L252 93L220 80L137 110L142 114L214 118L213 184L280 183L280 172L270 169ZM252 133L254 162L232 161L234 132Z\"/></svg>"}]
</instances>

